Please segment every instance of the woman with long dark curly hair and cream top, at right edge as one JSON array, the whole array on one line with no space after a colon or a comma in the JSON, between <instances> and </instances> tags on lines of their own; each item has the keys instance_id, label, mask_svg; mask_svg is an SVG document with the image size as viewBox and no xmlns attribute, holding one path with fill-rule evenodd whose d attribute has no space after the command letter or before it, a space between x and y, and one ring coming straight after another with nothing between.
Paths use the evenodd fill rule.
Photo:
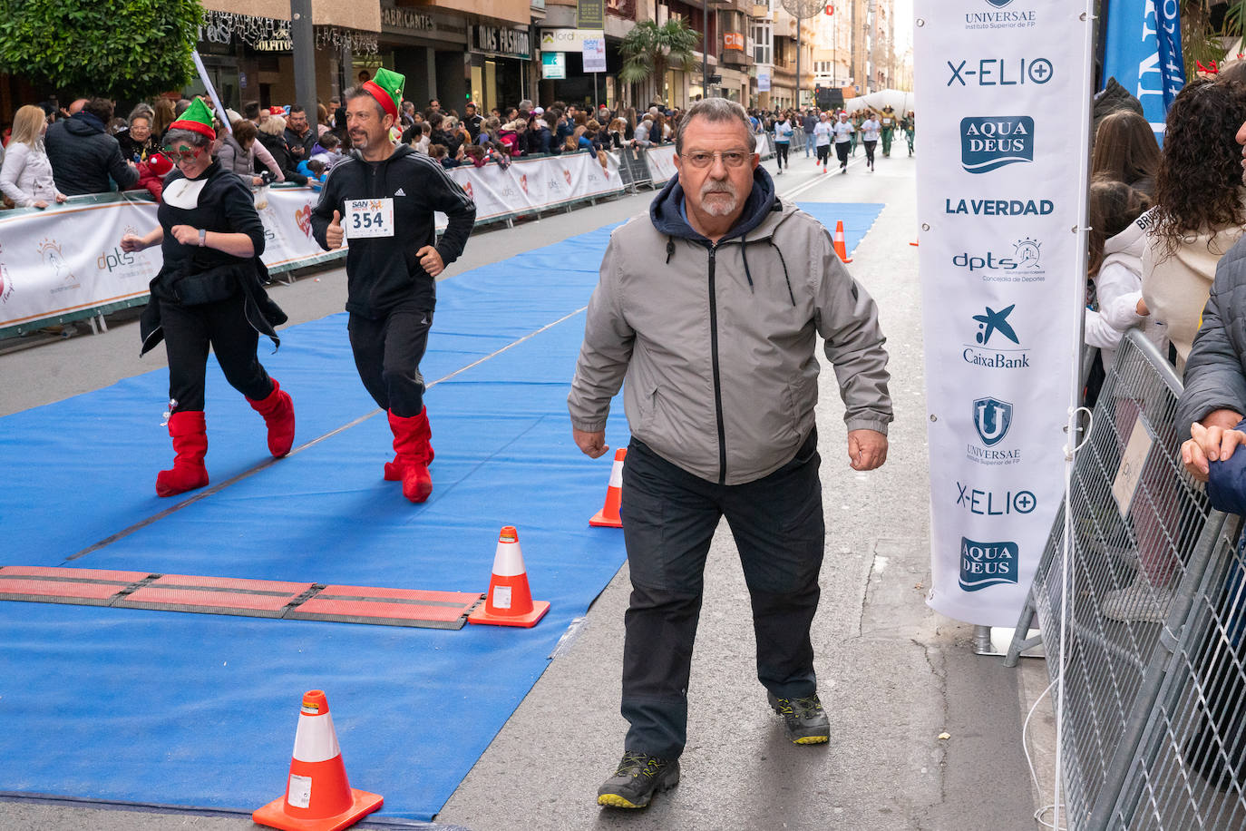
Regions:
<instances>
[{"instance_id":1,"label":"woman with long dark curly hair and cream top, at right edge","mask_svg":"<svg viewBox=\"0 0 1246 831\"><path fill-rule=\"evenodd\" d=\"M1168 324L1185 366L1216 263L1246 230L1242 148L1246 87L1190 81L1172 101L1155 181L1155 227L1143 254L1143 298Z\"/></svg>"}]
</instances>

